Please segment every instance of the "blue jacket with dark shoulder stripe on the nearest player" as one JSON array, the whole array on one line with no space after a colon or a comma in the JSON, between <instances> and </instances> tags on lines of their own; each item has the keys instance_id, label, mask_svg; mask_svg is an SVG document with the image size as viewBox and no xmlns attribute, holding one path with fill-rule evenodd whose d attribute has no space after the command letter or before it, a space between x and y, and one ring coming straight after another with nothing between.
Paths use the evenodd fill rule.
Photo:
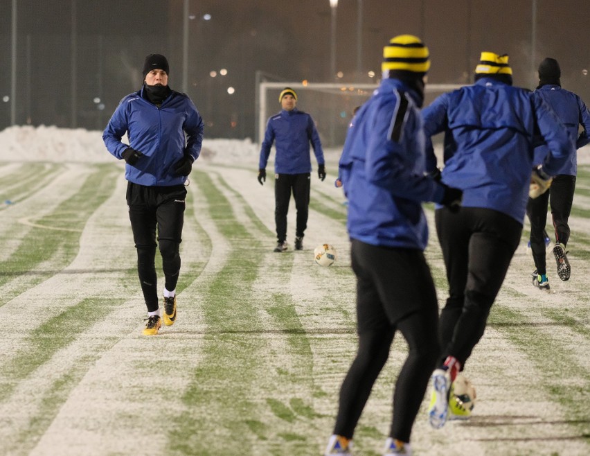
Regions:
<instances>
[{"instance_id":1,"label":"blue jacket with dark shoulder stripe on the nearest player","mask_svg":"<svg viewBox=\"0 0 590 456\"><path fill-rule=\"evenodd\" d=\"M423 201L444 188L424 176L424 133L418 97L404 82L382 80L352 120L339 162L348 198L350 238L370 245L423 250Z\"/></svg>"}]
</instances>

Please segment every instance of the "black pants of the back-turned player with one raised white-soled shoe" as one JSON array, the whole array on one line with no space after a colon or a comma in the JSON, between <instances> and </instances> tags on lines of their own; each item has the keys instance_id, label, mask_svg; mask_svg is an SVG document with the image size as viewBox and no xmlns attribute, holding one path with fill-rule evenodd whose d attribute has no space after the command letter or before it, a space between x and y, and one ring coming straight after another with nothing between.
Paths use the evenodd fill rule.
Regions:
<instances>
[{"instance_id":1,"label":"black pants of the back-turned player with one raised white-soled shoe","mask_svg":"<svg viewBox=\"0 0 590 456\"><path fill-rule=\"evenodd\" d=\"M442 360L461 365L470 357L488 322L490 308L517 249L522 225L492 209L437 209L438 241L449 281L449 298L440 313Z\"/></svg>"}]
</instances>

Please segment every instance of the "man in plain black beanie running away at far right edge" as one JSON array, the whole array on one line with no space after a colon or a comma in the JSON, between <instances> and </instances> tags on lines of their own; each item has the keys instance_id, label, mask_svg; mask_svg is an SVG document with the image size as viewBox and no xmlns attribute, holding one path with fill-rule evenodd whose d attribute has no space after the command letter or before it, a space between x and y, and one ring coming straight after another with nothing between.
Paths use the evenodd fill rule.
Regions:
<instances>
[{"instance_id":1,"label":"man in plain black beanie running away at far right edge","mask_svg":"<svg viewBox=\"0 0 590 456\"><path fill-rule=\"evenodd\" d=\"M546 58L539 64L539 86L535 94L557 114L560 121L569 131L575 149L590 143L590 112L580 96L563 89L561 84L560 64L553 58ZM578 134L578 126L582 132ZM546 144L535 148L535 164L542 163L549 150ZM573 154L563 168L553 177L551 187L539 198L528 201L527 214L530 220L530 249L533 252L535 271L533 285L541 290L549 289L545 261L544 229L547 223L547 204L551 206L551 218L555 230L555 246L553 255L557 263L557 276L563 281L569 280L571 267L567 258L566 245L569 241L568 225L573 193L575 191L575 175L578 173L578 154Z\"/></svg>"}]
</instances>

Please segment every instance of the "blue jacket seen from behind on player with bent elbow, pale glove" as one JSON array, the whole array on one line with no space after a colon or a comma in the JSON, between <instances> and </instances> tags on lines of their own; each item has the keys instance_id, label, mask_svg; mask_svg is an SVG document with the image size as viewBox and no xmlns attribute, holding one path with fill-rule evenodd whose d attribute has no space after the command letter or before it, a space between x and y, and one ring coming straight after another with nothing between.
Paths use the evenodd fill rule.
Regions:
<instances>
[{"instance_id":1,"label":"blue jacket seen from behind on player with bent elbow, pale glove","mask_svg":"<svg viewBox=\"0 0 590 456\"><path fill-rule=\"evenodd\" d=\"M543 168L556 175L573 150L567 130L532 91L482 78L442 94L422 110L427 170L436 167L431 136L445 132L442 182L463 190L463 207L494 209L524 220L536 126L551 153Z\"/></svg>"}]
</instances>

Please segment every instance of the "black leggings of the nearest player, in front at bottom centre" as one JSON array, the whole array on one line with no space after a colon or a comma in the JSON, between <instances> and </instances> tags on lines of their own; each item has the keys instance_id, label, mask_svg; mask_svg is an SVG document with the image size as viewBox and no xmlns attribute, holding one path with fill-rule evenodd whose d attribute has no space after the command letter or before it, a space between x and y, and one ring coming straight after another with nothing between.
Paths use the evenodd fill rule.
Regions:
<instances>
[{"instance_id":1,"label":"black leggings of the nearest player, in front at bottom centre","mask_svg":"<svg viewBox=\"0 0 590 456\"><path fill-rule=\"evenodd\" d=\"M399 330L409 351L395 383L390 437L407 442L439 356L438 304L430 271L419 250L353 240L351 253L359 349L340 390L334 434L352 438Z\"/></svg>"}]
</instances>

